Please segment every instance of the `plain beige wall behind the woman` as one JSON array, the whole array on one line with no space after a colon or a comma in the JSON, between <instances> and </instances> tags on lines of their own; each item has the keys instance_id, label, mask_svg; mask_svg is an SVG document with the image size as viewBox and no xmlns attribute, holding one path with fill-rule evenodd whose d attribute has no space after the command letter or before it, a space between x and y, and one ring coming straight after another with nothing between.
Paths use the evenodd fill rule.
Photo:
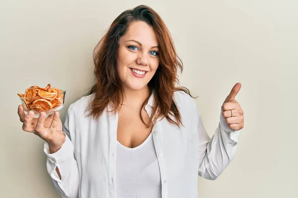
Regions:
<instances>
[{"instance_id":1,"label":"plain beige wall behind the woman","mask_svg":"<svg viewBox=\"0 0 298 198\"><path fill-rule=\"evenodd\" d=\"M17 93L67 90L66 106L92 83L92 49L116 16L145 3L164 19L210 136L236 82L245 115L237 154L200 198L298 197L297 0L1 0L0 197L57 198L43 140L21 130Z\"/></svg>"}]
</instances>

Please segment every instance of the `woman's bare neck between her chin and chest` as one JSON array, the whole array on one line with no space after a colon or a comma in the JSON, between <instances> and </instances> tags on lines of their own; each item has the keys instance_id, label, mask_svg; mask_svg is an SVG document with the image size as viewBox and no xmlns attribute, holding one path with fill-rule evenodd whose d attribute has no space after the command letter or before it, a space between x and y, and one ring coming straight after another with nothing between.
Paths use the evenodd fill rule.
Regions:
<instances>
[{"instance_id":1,"label":"woman's bare neck between her chin and chest","mask_svg":"<svg viewBox=\"0 0 298 198\"><path fill-rule=\"evenodd\" d=\"M149 97L150 89L148 86L140 90L125 89L125 101L126 106L141 108L145 99Z\"/></svg>"}]
</instances>

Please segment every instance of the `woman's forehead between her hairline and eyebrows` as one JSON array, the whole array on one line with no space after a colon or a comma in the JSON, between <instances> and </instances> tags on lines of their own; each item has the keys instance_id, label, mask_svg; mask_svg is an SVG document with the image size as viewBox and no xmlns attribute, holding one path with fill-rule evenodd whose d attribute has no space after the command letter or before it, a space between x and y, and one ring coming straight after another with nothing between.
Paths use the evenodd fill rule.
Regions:
<instances>
[{"instance_id":1,"label":"woman's forehead between her hairline and eyebrows","mask_svg":"<svg viewBox=\"0 0 298 198\"><path fill-rule=\"evenodd\" d=\"M121 38L123 41L136 40L144 46L157 46L157 37L154 29L146 22L136 21L132 22L126 34Z\"/></svg>"}]
</instances>

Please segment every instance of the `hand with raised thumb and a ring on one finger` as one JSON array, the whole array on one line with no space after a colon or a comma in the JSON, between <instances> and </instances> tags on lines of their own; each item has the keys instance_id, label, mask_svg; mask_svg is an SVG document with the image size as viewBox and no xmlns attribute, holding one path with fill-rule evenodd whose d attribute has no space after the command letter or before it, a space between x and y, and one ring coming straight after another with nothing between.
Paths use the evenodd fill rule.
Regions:
<instances>
[{"instance_id":1,"label":"hand with raised thumb and a ring on one finger","mask_svg":"<svg viewBox=\"0 0 298 198\"><path fill-rule=\"evenodd\" d=\"M222 105L225 122L227 126L234 131L238 131L244 127L243 110L240 104L235 100L240 88L241 84L236 83Z\"/></svg>"}]
</instances>

